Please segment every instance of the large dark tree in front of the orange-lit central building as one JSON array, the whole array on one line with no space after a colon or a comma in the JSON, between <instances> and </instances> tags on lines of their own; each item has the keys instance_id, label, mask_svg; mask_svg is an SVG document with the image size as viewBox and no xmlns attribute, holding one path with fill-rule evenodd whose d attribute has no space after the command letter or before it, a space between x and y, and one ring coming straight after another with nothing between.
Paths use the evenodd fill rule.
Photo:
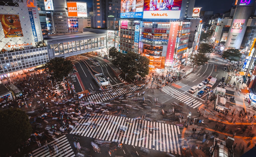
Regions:
<instances>
[{"instance_id":1,"label":"large dark tree in front of the orange-lit central building","mask_svg":"<svg viewBox=\"0 0 256 157\"><path fill-rule=\"evenodd\" d=\"M133 78L137 74L145 77L149 73L149 59L145 56L128 52L127 54L122 55L121 59L117 59L120 61L119 66L122 69L122 72L127 74L130 78Z\"/></svg>"}]
</instances>

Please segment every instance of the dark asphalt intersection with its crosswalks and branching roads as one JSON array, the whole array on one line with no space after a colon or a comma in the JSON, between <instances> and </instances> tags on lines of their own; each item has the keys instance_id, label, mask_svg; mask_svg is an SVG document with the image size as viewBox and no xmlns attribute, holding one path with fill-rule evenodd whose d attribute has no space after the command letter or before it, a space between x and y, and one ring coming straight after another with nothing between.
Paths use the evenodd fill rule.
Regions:
<instances>
[{"instance_id":1,"label":"dark asphalt intersection with its crosswalks and branching roads","mask_svg":"<svg viewBox=\"0 0 256 157\"><path fill-rule=\"evenodd\" d=\"M247 102L244 102L243 93L238 95L233 88L226 89L228 96L235 97L231 101L231 112L235 112L231 117L231 113L215 111L214 101L210 101L210 97L208 105L203 104L208 93L198 98L196 93L199 90L194 94L188 91L209 76L217 78L211 89L214 91L221 78L227 78L228 73L223 71L227 63L215 53L209 54L208 63L197 67L182 80L162 86L161 90L156 88L156 81L151 84L151 78L158 77L157 73L154 76L148 75L145 80L138 81L137 85L129 84L118 77L120 71L108 60L89 56L99 61L100 66L92 68L109 77L113 89L100 92L98 84L85 64L80 61L82 57L72 60L77 70L74 74L78 82L73 81L75 89L82 89L81 92L95 91L95 94L79 100L82 109L74 110L74 105L75 108L78 107L78 102L74 100L67 103L66 110L65 107L61 109L63 118L66 121L71 119L69 131L54 134L55 138L48 138L52 141L48 141L47 145L57 147L51 155L49 147L46 147L43 141L40 148L35 144L29 147L35 157L60 154L63 157L96 157L110 154L119 157L166 156L166 153L174 156L209 156L209 148L213 145L214 137L224 139L225 135L233 137L234 143L238 143L235 157L254 146L256 138L252 123L255 123L255 120L250 121L247 120L247 116L239 116L239 111L243 109L249 113L252 111ZM90 61L88 63L91 64ZM76 88L77 85L80 85L80 88ZM242 88L241 84L239 88ZM55 107L51 109L54 110ZM39 112L38 115L40 114ZM50 119L49 116L45 121ZM191 125L190 120L193 121ZM192 132L193 128L197 129L195 133ZM42 128L39 133L43 131L49 132ZM202 149L195 151L197 144Z\"/></svg>"}]
</instances>

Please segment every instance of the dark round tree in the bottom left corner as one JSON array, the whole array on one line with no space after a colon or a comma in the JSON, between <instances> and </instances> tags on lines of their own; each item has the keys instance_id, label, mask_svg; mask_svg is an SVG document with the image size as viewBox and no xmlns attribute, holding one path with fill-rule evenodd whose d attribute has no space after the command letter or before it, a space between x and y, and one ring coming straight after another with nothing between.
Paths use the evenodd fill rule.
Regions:
<instances>
[{"instance_id":1,"label":"dark round tree in the bottom left corner","mask_svg":"<svg viewBox=\"0 0 256 157\"><path fill-rule=\"evenodd\" d=\"M0 118L0 152L14 152L32 133L28 116L23 110L11 108L0 111Z\"/></svg>"}]
</instances>

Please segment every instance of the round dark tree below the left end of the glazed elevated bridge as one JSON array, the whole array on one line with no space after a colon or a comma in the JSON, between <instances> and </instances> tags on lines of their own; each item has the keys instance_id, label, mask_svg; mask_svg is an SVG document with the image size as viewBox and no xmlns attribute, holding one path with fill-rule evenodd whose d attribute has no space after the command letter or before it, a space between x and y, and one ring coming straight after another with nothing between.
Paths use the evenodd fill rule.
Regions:
<instances>
[{"instance_id":1,"label":"round dark tree below the left end of the glazed elevated bridge","mask_svg":"<svg viewBox=\"0 0 256 157\"><path fill-rule=\"evenodd\" d=\"M55 57L45 64L46 70L51 74L51 79L61 81L73 70L73 64L64 58Z\"/></svg>"}]
</instances>

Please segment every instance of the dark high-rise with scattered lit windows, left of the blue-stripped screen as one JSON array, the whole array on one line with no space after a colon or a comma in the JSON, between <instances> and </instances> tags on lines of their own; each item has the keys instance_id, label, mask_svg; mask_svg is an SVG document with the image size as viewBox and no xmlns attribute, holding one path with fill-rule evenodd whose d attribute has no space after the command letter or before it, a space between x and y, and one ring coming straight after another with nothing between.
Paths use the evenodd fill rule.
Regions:
<instances>
[{"instance_id":1,"label":"dark high-rise with scattered lit windows, left of the blue-stripped screen","mask_svg":"<svg viewBox=\"0 0 256 157\"><path fill-rule=\"evenodd\" d=\"M93 0L92 27L107 28L108 18L120 18L120 0Z\"/></svg>"}]
</instances>

